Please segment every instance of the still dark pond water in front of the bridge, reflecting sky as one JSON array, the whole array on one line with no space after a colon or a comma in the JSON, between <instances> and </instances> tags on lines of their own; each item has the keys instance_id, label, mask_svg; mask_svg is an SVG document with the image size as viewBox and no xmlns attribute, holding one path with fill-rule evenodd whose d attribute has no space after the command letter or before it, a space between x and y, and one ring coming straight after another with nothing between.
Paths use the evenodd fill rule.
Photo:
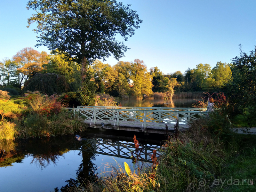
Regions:
<instances>
[{"instance_id":1,"label":"still dark pond water in front of the bridge, reflecting sky","mask_svg":"<svg viewBox=\"0 0 256 192\"><path fill-rule=\"evenodd\" d=\"M87 140L79 142L72 135L0 143L1 191L50 192L72 179L81 178L81 181L93 180L96 175L100 177L102 172L111 171L107 164L123 166L126 162L133 166L130 158L130 150L134 149L133 133L120 131L118 136L116 132L91 130L81 135ZM151 138L137 133L136 137L147 151L148 160L150 150L159 148L160 141L165 140L163 135ZM145 155L142 157L145 159Z\"/></svg>"}]
</instances>

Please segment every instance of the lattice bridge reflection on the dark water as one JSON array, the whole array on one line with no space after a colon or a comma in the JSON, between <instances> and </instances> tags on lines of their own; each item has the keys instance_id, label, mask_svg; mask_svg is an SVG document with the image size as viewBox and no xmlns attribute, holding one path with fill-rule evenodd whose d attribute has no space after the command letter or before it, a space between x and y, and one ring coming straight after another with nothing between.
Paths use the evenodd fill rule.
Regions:
<instances>
[{"instance_id":1,"label":"lattice bridge reflection on the dark water","mask_svg":"<svg viewBox=\"0 0 256 192\"><path fill-rule=\"evenodd\" d=\"M131 151L135 149L134 143L129 137L118 137L105 135L108 138L94 136L88 140L83 140L79 148L72 148L72 150L79 150L85 152L93 152L113 157L120 157L124 159L131 159ZM111 138L109 138L111 137ZM141 158L144 162L150 162L153 150L160 148L160 141L156 140L140 140L140 148L142 148Z\"/></svg>"}]
</instances>

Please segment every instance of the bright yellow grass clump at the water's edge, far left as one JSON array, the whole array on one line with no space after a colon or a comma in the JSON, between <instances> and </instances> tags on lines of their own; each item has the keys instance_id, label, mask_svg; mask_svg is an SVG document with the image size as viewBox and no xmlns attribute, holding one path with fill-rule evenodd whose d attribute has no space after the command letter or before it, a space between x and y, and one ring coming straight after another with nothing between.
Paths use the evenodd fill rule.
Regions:
<instances>
[{"instance_id":1,"label":"bright yellow grass clump at the water's edge, far left","mask_svg":"<svg viewBox=\"0 0 256 192\"><path fill-rule=\"evenodd\" d=\"M0 140L14 140L15 134L15 124L2 119L0 121Z\"/></svg>"}]
</instances>

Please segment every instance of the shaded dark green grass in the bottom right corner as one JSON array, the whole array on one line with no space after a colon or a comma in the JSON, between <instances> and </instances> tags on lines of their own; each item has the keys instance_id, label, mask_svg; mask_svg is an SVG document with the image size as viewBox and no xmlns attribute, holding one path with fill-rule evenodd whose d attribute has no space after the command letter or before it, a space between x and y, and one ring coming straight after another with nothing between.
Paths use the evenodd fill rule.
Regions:
<instances>
[{"instance_id":1,"label":"shaded dark green grass in the bottom right corner","mask_svg":"<svg viewBox=\"0 0 256 192\"><path fill-rule=\"evenodd\" d=\"M222 180L226 179L226 182L222 187L217 186L214 188L213 191L256 191L256 136L237 135L236 145L238 146L236 151L231 150L230 153L230 151L226 150L229 152L228 158L226 158L226 164L223 166L222 174L219 177ZM227 183L227 180L229 180L229 183Z\"/></svg>"}]
</instances>

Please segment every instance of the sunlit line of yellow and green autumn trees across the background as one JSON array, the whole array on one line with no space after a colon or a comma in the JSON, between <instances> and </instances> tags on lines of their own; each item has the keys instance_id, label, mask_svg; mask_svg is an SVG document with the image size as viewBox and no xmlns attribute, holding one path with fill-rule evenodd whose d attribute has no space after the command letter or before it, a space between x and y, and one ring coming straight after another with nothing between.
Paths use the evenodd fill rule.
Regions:
<instances>
[{"instance_id":1,"label":"sunlit line of yellow and green autumn trees across the background","mask_svg":"<svg viewBox=\"0 0 256 192\"><path fill-rule=\"evenodd\" d=\"M114 66L95 60L88 66L87 76L94 86L90 87L93 92L108 93L120 98L142 97L144 94L152 97L153 92L163 93L162 96L154 95L158 98L200 98L200 93L204 91L223 91L223 87L232 79L230 68L231 63L217 62L214 68L209 64L198 64L196 68L188 68L184 74L180 71L164 74L157 67L148 71L144 62L139 59L134 62L118 61ZM70 86L70 89L65 90L77 91L81 87L80 65L70 57L57 51L48 55L46 52L24 48L12 60L5 59L0 63L0 88L19 91L37 73L64 76ZM44 90L45 86L47 85L42 85Z\"/></svg>"}]
</instances>

